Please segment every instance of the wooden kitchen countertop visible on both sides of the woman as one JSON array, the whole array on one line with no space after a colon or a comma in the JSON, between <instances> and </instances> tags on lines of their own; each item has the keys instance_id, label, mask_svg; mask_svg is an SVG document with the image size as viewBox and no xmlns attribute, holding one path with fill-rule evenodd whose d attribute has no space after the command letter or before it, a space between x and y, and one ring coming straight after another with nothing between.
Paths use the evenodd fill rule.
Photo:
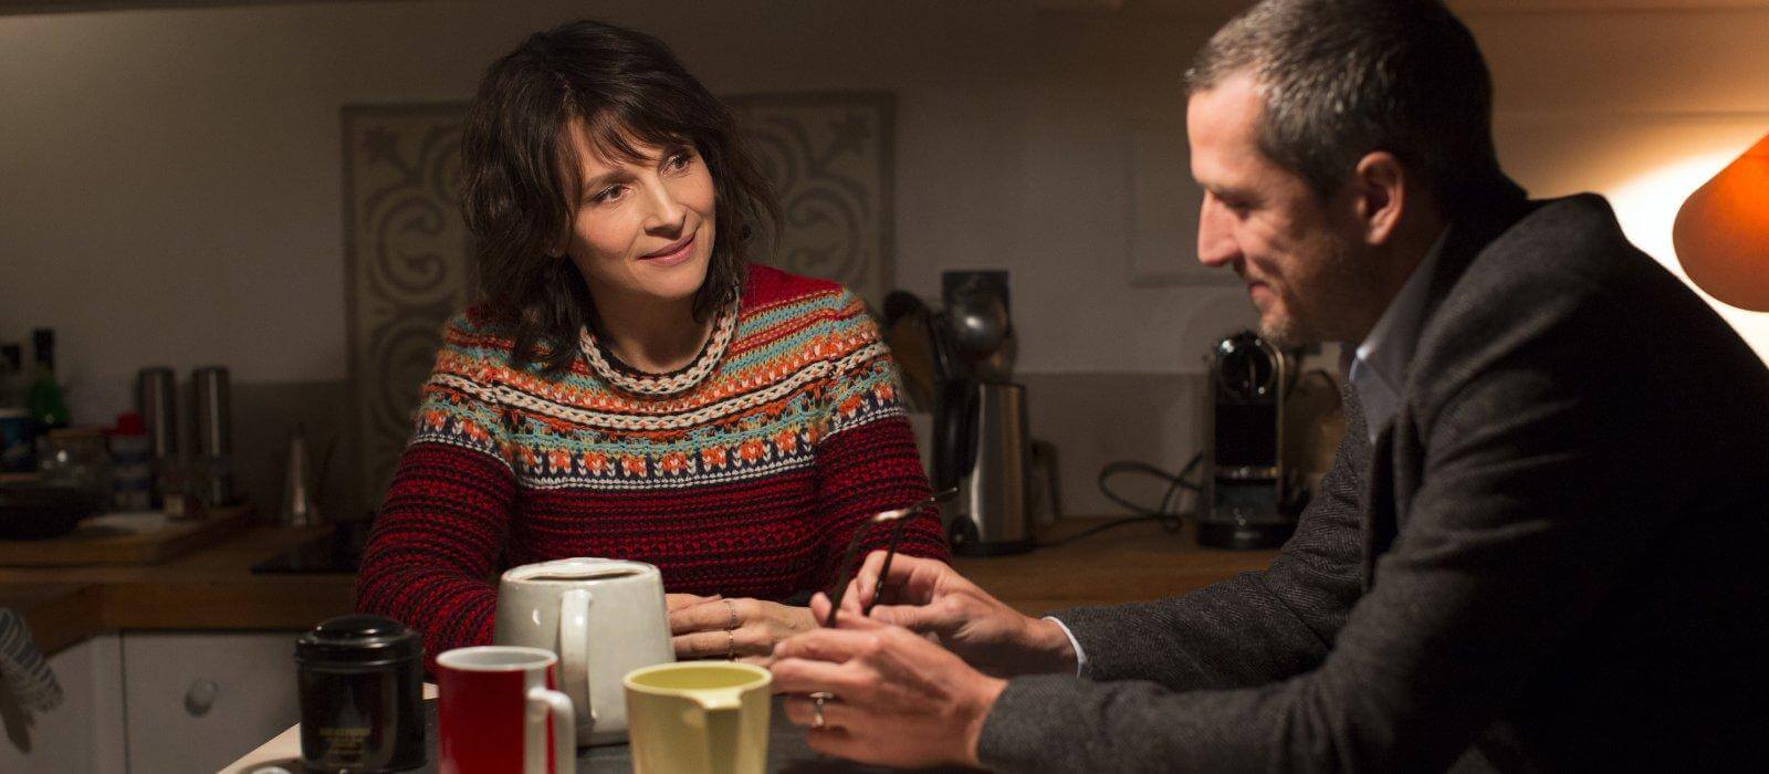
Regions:
<instances>
[{"instance_id":1,"label":"wooden kitchen countertop visible on both sides of the woman","mask_svg":"<svg viewBox=\"0 0 1769 774\"><path fill-rule=\"evenodd\" d=\"M1097 518L1042 530L1060 541ZM251 565L324 534L324 527L251 527L156 565L0 567L0 606L19 611L53 654L113 629L306 629L348 613L354 574L251 574ZM1183 594L1261 569L1274 551L1198 548L1187 527L1132 523L1014 557L959 557L953 565L1024 613Z\"/></svg>"}]
</instances>

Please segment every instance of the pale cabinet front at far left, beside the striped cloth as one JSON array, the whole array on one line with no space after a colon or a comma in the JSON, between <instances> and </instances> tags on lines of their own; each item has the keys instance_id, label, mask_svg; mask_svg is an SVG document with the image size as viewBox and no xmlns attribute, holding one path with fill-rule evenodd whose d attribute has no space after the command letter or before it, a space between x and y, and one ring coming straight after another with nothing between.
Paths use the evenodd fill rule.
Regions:
<instances>
[{"instance_id":1,"label":"pale cabinet front at far left, beside the striped cloth","mask_svg":"<svg viewBox=\"0 0 1769 774\"><path fill-rule=\"evenodd\" d=\"M0 687L0 772L122 774L122 668L117 634L99 634L50 656L62 703L19 707Z\"/></svg>"}]
</instances>

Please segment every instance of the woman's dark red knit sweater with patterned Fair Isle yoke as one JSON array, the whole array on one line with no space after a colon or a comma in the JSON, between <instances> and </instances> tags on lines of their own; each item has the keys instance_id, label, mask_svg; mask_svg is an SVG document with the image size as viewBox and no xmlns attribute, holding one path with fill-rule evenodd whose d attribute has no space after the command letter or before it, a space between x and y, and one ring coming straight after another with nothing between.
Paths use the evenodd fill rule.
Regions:
<instances>
[{"instance_id":1,"label":"woman's dark red knit sweater with patterned Fair Isle yoke","mask_svg":"<svg viewBox=\"0 0 1769 774\"><path fill-rule=\"evenodd\" d=\"M752 265L669 375L587 330L580 348L543 378L472 309L442 330L357 576L357 608L423 633L432 659L492 641L506 567L633 558L669 592L787 599L831 583L867 516L929 493L890 352L833 283ZM945 558L938 516L899 550Z\"/></svg>"}]
</instances>

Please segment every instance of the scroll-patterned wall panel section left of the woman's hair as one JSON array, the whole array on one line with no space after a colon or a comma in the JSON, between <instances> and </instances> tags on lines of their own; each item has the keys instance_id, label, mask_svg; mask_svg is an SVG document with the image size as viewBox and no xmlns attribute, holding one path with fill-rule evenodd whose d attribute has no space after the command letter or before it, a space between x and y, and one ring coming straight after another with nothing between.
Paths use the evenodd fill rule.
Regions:
<instances>
[{"instance_id":1,"label":"scroll-patterned wall panel section left of the woman's hair","mask_svg":"<svg viewBox=\"0 0 1769 774\"><path fill-rule=\"evenodd\" d=\"M343 110L350 378L361 484L380 502L442 323L467 306L460 102Z\"/></svg>"}]
</instances>

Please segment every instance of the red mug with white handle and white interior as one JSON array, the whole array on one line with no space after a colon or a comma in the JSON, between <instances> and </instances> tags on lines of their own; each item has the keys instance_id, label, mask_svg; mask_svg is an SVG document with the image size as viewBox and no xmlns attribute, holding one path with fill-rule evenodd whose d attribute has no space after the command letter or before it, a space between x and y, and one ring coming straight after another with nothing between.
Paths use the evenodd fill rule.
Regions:
<instances>
[{"instance_id":1,"label":"red mug with white handle and white interior","mask_svg":"<svg viewBox=\"0 0 1769 774\"><path fill-rule=\"evenodd\" d=\"M577 723L552 650L481 645L437 656L442 774L573 774Z\"/></svg>"}]
</instances>

